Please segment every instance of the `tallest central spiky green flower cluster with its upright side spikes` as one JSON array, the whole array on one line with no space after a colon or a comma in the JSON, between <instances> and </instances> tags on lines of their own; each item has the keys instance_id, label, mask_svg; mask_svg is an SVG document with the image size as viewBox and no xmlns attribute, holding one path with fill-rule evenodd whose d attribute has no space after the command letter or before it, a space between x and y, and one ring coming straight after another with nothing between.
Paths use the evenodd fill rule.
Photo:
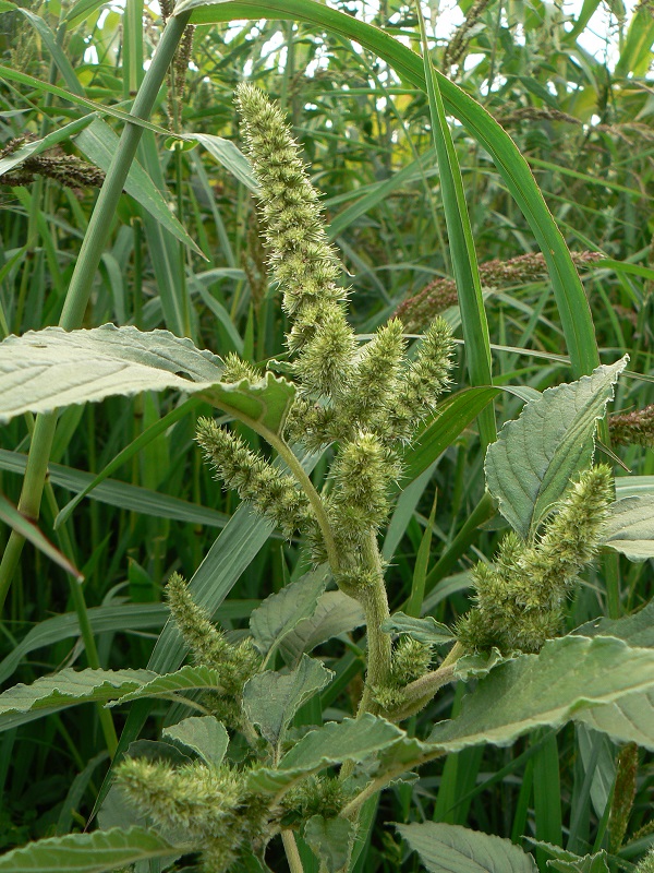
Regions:
<instances>
[{"instance_id":1,"label":"tallest central spiky green flower cluster with its upright side spikes","mask_svg":"<svg viewBox=\"0 0 654 873\"><path fill-rule=\"evenodd\" d=\"M318 193L284 118L251 85L239 87L237 101L261 187L269 263L290 321L287 342L294 355L298 398L284 435L310 451L338 444L322 500L339 554L339 566L332 570L339 584L355 594L356 587L380 578L382 563L371 560L371 537L390 510L390 486L400 473L398 449L433 412L448 384L451 334L438 320L411 361L402 324L393 319L358 348L346 318L347 291L338 284L342 270L327 240ZM247 367L240 369L230 359L229 378L247 376ZM318 529L291 477L206 420L199 424L198 442L242 499L275 521L286 536L305 534L316 562L328 558L324 528Z\"/></svg>"}]
</instances>

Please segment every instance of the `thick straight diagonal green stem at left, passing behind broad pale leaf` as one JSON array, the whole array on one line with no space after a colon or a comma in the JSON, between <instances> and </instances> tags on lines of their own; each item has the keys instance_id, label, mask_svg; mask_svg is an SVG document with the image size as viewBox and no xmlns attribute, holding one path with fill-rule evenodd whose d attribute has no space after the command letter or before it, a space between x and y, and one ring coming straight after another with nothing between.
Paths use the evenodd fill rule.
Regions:
<instances>
[{"instance_id":1,"label":"thick straight diagonal green stem at left, passing behind broad pale leaf","mask_svg":"<svg viewBox=\"0 0 654 873\"><path fill-rule=\"evenodd\" d=\"M190 16L191 13L185 12L168 20L150 68L134 100L132 115L135 118L147 120L149 117L172 56L174 55L174 50ZM84 237L80 256L75 263L75 270L63 304L59 325L63 327L64 331L74 331L78 328L84 321L84 313L88 303L93 282L111 229L111 220L118 201L120 200L125 179L128 178L130 166L136 154L142 133L143 128L138 124L126 123L120 137L118 148L116 150L93 215L90 216L88 229ZM32 445L29 446L25 479L23 480L23 489L19 501L20 512L31 519L38 518L48 459L50 457L56 428L57 412L37 417ZM0 610L2 609L11 579L21 559L24 542L25 540L23 537L12 531L2 558L2 563L0 563Z\"/></svg>"}]
</instances>

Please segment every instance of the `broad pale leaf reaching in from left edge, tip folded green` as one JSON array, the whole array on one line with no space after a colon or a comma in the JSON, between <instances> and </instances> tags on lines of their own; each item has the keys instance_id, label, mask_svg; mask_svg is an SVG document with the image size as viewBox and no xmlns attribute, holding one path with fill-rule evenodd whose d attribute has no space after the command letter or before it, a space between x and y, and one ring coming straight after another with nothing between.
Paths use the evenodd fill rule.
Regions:
<instances>
[{"instance_id":1,"label":"broad pale leaf reaching in from left edge, tip folded green","mask_svg":"<svg viewBox=\"0 0 654 873\"><path fill-rule=\"evenodd\" d=\"M23 412L177 388L277 433L294 386L266 373L259 381L221 383L222 360L168 331L105 324L66 332L29 331L0 343L0 422Z\"/></svg>"}]
</instances>

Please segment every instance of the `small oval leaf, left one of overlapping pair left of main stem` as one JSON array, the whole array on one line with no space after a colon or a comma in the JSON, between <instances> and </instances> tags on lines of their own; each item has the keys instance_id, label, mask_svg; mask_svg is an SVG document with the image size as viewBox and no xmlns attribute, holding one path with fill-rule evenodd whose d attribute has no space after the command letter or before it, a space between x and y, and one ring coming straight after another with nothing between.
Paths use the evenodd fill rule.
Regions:
<instances>
[{"instance_id":1,"label":"small oval leaf, left one of overlapping pair left of main stem","mask_svg":"<svg viewBox=\"0 0 654 873\"><path fill-rule=\"evenodd\" d=\"M250 617L250 632L257 649L267 656L266 660L301 621L314 614L328 574L326 565L305 573L298 582L271 594L254 610Z\"/></svg>"}]
</instances>

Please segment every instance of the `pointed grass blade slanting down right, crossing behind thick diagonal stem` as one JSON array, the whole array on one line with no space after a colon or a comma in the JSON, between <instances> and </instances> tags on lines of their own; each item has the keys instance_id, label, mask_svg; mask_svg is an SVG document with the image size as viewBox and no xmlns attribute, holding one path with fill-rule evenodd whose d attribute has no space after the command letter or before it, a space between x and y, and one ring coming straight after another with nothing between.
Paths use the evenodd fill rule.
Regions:
<instances>
[{"instance_id":1,"label":"pointed grass blade slanting down right, crossing behind thick diagonal stem","mask_svg":"<svg viewBox=\"0 0 654 873\"><path fill-rule=\"evenodd\" d=\"M75 137L75 145L82 154L105 172L109 170L118 148L118 136L109 124L99 118L96 118ZM130 166L124 190L173 237L187 246L195 254L204 258L202 250L174 217L161 192L137 160L133 160Z\"/></svg>"}]
</instances>

